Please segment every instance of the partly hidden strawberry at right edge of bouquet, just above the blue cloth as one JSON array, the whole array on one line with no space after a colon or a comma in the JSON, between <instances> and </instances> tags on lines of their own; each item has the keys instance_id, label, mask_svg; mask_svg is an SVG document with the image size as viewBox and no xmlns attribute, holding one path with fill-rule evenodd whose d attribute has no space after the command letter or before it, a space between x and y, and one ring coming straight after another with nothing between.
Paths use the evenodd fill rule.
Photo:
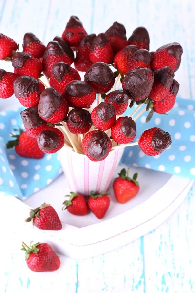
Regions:
<instances>
[{"instance_id":1,"label":"partly hidden strawberry at right edge of bouquet, just above the blue cloth","mask_svg":"<svg viewBox=\"0 0 195 293\"><path fill-rule=\"evenodd\" d=\"M168 95L161 101L154 101L153 109L156 113L164 114L170 111L176 101L176 95L179 90L179 83L174 79Z\"/></svg>"}]
</instances>

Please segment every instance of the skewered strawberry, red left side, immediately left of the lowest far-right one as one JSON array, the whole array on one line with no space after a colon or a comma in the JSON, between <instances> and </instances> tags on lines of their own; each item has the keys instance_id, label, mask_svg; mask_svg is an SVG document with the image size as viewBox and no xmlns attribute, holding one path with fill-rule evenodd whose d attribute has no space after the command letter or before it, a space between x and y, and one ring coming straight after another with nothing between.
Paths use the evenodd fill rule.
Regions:
<instances>
[{"instance_id":1,"label":"skewered strawberry, red left side, immediately left of the lowest far-right one","mask_svg":"<svg viewBox=\"0 0 195 293\"><path fill-rule=\"evenodd\" d=\"M136 122L131 117L119 117L112 127L111 135L118 144L131 143L137 134Z\"/></svg>"}]
</instances>

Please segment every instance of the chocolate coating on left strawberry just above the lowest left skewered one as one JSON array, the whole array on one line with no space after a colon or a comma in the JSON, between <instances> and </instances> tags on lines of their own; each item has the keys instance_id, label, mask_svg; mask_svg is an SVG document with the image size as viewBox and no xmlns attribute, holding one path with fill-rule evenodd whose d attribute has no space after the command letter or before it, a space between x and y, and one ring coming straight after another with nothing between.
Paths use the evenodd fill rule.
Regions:
<instances>
[{"instance_id":1,"label":"chocolate coating on left strawberry just above the lowest left skewered one","mask_svg":"<svg viewBox=\"0 0 195 293\"><path fill-rule=\"evenodd\" d=\"M38 114L38 105L21 111L20 115L24 126L28 129L36 128L45 124L45 121L42 120Z\"/></svg>"}]
</instances>

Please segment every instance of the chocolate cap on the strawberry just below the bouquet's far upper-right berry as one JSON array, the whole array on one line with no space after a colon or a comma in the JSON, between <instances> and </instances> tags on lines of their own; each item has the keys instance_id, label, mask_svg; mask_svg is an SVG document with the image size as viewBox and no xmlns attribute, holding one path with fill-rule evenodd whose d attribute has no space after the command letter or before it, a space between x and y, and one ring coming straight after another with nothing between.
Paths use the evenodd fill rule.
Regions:
<instances>
[{"instance_id":1,"label":"chocolate cap on the strawberry just below the bouquet's far upper-right berry","mask_svg":"<svg viewBox=\"0 0 195 293\"><path fill-rule=\"evenodd\" d=\"M154 72L154 81L159 82L165 88L170 88L174 80L174 72L169 66L160 68Z\"/></svg>"}]
</instances>

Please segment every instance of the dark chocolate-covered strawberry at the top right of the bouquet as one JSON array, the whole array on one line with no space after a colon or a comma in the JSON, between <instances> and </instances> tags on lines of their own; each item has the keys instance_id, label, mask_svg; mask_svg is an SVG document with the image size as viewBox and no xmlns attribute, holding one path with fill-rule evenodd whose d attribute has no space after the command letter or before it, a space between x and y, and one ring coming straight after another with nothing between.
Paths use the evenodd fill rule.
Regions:
<instances>
[{"instance_id":1,"label":"dark chocolate-covered strawberry at the top right of the bouquet","mask_svg":"<svg viewBox=\"0 0 195 293\"><path fill-rule=\"evenodd\" d=\"M128 39L128 45L135 45L138 49L149 50L150 38L145 27L140 26L135 29Z\"/></svg>"}]
</instances>

